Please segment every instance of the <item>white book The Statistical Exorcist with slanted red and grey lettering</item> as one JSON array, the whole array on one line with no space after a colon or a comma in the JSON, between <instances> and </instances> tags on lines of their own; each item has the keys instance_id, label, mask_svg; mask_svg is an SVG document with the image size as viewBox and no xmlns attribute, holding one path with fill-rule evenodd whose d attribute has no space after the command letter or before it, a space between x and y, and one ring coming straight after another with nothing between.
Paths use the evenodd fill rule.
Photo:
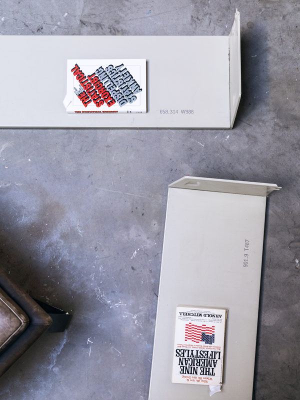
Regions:
<instances>
[{"instance_id":1,"label":"white book The Statistical Exorcist with slanted red and grey lettering","mask_svg":"<svg viewBox=\"0 0 300 400\"><path fill-rule=\"evenodd\" d=\"M68 113L146 112L145 59L68 59Z\"/></svg>"}]
</instances>

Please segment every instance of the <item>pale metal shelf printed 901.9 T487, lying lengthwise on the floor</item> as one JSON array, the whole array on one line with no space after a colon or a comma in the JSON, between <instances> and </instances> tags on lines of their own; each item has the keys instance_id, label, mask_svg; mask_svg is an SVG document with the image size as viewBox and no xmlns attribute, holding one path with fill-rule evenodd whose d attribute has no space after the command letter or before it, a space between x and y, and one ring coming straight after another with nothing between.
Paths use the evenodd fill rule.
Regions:
<instances>
[{"instance_id":1,"label":"pale metal shelf printed 901.9 T487, lying lengthwise on the floor","mask_svg":"<svg viewBox=\"0 0 300 400\"><path fill-rule=\"evenodd\" d=\"M179 304L228 310L216 396L252 399L266 196L279 188L195 176L169 185L149 400L209 398L205 385L171 382Z\"/></svg>"}]
</instances>

